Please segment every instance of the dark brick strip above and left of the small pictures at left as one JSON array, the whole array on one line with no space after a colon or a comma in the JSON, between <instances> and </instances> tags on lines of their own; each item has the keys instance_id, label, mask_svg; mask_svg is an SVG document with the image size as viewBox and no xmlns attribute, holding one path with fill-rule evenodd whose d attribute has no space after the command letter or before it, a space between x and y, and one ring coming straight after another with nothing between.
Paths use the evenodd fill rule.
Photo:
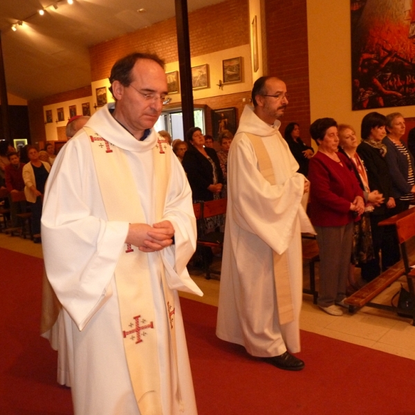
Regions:
<instances>
[{"instance_id":1,"label":"dark brick strip above and left of the small pictures at left","mask_svg":"<svg viewBox=\"0 0 415 415\"><path fill-rule=\"evenodd\" d=\"M90 97L92 95L91 85L83 88L73 89L51 95L39 100L28 101L30 137L32 144L46 141L44 105L56 104L57 102L76 100L77 98ZM66 136L63 138L66 139ZM61 140L61 138L59 138Z\"/></svg>"}]
</instances>

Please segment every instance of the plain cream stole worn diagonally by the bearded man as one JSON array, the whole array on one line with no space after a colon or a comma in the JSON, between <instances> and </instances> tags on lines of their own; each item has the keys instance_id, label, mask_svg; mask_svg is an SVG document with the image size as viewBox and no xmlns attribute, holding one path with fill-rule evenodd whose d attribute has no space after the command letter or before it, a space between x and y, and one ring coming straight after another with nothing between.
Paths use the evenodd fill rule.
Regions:
<instances>
[{"instance_id":1,"label":"plain cream stole worn diagonally by the bearded man","mask_svg":"<svg viewBox=\"0 0 415 415\"><path fill-rule=\"evenodd\" d=\"M264 176L270 185L275 185L275 174L273 163L271 162L268 151L260 136L246 133L252 142L257 156L259 172ZM277 295L277 312L279 324L286 324L294 320L293 296L291 295L290 270L288 267L288 256L286 252L281 255L273 250L273 268L275 293Z\"/></svg>"}]
</instances>

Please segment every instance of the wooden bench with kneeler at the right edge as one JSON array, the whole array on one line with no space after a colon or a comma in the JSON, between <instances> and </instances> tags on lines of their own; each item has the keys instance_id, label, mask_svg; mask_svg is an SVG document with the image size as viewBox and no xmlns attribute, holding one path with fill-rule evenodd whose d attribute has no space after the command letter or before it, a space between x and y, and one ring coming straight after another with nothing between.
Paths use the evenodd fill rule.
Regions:
<instances>
[{"instance_id":1,"label":"wooden bench with kneeler at the right edge","mask_svg":"<svg viewBox=\"0 0 415 415\"><path fill-rule=\"evenodd\" d=\"M350 297L344 300L349 305L349 311L353 313L357 308L363 306L369 306L374 308L380 308L382 310L399 312L399 309L395 306L388 306L386 304L378 304L371 302L376 295L382 293L385 288L389 287L397 279L405 275L407 277L409 293L414 299L414 284L412 282L412 273L415 277L415 273L409 266L409 255L407 252L407 241L415 237L415 208L411 208L391 216L385 221L379 223L380 226L395 225L396 232L398 234L398 241L400 243L400 252L402 254L403 261L398 262L394 266L391 266L385 272L376 277L373 281L360 288L360 290L353 293ZM415 317L413 315L413 317ZM415 325L415 320L412 323Z\"/></svg>"}]
</instances>

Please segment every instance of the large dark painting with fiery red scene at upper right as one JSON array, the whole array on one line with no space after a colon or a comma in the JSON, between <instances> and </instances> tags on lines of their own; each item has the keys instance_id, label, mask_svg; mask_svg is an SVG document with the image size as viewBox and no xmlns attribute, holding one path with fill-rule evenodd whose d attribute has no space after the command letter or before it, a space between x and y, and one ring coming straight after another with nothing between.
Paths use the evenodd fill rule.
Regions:
<instances>
[{"instance_id":1,"label":"large dark painting with fiery red scene at upper right","mask_svg":"<svg viewBox=\"0 0 415 415\"><path fill-rule=\"evenodd\" d=\"M415 1L351 0L352 109L415 104Z\"/></svg>"}]
</instances>

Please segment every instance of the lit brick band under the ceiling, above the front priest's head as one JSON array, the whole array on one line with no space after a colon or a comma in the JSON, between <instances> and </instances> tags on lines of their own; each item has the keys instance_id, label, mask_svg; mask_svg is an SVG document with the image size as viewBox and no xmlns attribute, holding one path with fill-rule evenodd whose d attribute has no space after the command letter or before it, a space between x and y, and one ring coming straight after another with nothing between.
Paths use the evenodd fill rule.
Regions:
<instances>
[{"instance_id":1,"label":"lit brick band under the ceiling, above the front priest's head","mask_svg":"<svg viewBox=\"0 0 415 415\"><path fill-rule=\"evenodd\" d=\"M248 0L226 0L189 13L189 32L192 56L248 44ZM91 46L91 79L109 77L117 59L138 50L156 53L166 63L178 61L176 18Z\"/></svg>"}]
</instances>

